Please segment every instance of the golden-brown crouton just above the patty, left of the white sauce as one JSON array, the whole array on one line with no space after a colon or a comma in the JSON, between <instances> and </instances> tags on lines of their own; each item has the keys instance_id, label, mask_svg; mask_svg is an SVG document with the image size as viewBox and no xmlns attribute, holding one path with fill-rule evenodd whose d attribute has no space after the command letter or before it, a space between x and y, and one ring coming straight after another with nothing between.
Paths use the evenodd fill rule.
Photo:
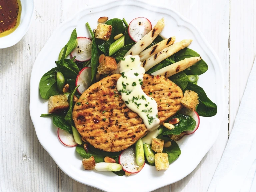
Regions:
<instances>
[{"instance_id":1,"label":"golden-brown crouton just above the patty, left of the white sauce","mask_svg":"<svg viewBox=\"0 0 256 192\"><path fill-rule=\"evenodd\" d=\"M98 73L107 75L117 69L116 60L113 57L105 57L98 66Z\"/></svg>"}]
</instances>

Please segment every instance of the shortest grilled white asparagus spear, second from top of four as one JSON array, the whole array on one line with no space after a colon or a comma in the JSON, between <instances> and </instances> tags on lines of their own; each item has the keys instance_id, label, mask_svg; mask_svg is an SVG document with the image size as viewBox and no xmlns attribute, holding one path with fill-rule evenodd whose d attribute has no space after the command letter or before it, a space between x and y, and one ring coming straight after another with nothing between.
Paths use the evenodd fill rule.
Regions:
<instances>
[{"instance_id":1,"label":"shortest grilled white asparagus spear, second from top of four","mask_svg":"<svg viewBox=\"0 0 256 192\"><path fill-rule=\"evenodd\" d=\"M151 55L158 53L159 51L163 50L166 47L169 47L175 42L175 36L170 37L169 39L164 39L163 41L160 41L159 43L149 47L145 51L142 51L140 56L140 61L145 61L147 58L149 58Z\"/></svg>"}]
</instances>

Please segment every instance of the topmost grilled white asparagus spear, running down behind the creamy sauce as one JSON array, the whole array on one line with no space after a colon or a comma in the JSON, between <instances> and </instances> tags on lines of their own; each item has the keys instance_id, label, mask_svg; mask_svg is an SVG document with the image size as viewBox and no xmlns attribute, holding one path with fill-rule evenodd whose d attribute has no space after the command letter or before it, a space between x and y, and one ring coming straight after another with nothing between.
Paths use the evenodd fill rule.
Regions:
<instances>
[{"instance_id":1,"label":"topmost grilled white asparagus spear, running down behind the creamy sauce","mask_svg":"<svg viewBox=\"0 0 256 192\"><path fill-rule=\"evenodd\" d=\"M164 18L160 19L156 25L153 27L151 31L149 31L144 37L141 38L137 43L135 43L132 48L125 54L127 55L138 55L141 51L147 48L154 39L159 35L159 33L164 28ZM125 57L124 56L124 57ZM120 62L117 64L117 69L115 71L112 71L111 74L117 74L119 73L120 68Z\"/></svg>"}]
</instances>

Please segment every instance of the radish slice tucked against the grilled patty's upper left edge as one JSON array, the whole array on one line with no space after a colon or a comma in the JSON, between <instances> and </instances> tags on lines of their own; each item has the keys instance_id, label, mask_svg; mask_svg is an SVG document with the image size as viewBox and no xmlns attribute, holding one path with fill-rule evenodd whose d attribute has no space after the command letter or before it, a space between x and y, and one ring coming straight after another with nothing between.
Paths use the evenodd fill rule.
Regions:
<instances>
[{"instance_id":1,"label":"radish slice tucked against the grilled patty's upper left edge","mask_svg":"<svg viewBox=\"0 0 256 192\"><path fill-rule=\"evenodd\" d=\"M85 67L77 75L76 86L80 85L77 88L78 93L82 94L91 84L92 79L92 68Z\"/></svg>"}]
</instances>

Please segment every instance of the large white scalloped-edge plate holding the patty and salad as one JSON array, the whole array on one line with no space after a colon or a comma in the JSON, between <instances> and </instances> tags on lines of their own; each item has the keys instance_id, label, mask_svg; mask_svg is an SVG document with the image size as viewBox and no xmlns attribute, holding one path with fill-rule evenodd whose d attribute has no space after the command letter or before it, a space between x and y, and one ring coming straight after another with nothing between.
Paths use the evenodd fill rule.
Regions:
<instances>
[{"instance_id":1,"label":"large white scalloped-edge plate holding the patty and salad","mask_svg":"<svg viewBox=\"0 0 256 192\"><path fill-rule=\"evenodd\" d=\"M48 101L42 99L39 94L40 78L55 67L54 61L57 60L61 48L69 40L73 29L77 29L78 36L90 37L85 23L89 22L91 28L94 29L101 16L125 18L127 22L136 17L146 17L152 25L164 17L165 28L161 35L164 37L175 35L177 42L182 39L193 39L189 48L200 53L209 66L209 70L200 76L198 85L203 87L208 97L217 104L218 113L214 117L200 117L199 129L178 142L182 153L166 171L156 171L155 167L148 164L138 174L129 177L120 177L112 172L85 171L81 163L82 158L76 153L75 148L68 148L60 143L57 128L52 124L52 119L40 117L42 113L48 112ZM153 7L138 1L117 1L84 10L55 30L33 66L30 82L30 115L42 146L57 165L74 180L111 192L152 191L186 177L214 144L225 112L223 82L219 59L205 38L187 19L173 10Z\"/></svg>"}]
</instances>

